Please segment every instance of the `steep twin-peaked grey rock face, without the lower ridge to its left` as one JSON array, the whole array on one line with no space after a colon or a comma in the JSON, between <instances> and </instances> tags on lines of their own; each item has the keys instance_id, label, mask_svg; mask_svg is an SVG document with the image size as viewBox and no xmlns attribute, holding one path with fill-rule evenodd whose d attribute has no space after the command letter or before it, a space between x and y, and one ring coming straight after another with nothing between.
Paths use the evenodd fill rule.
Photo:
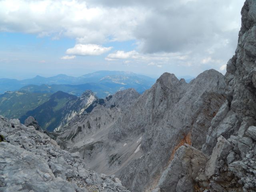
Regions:
<instances>
[{"instance_id":1,"label":"steep twin-peaked grey rock face, without the lower ridge to its left","mask_svg":"<svg viewBox=\"0 0 256 192\"><path fill-rule=\"evenodd\" d=\"M224 76L215 70L203 72L189 84L163 74L108 133L110 140L127 146L139 141L138 152L131 156L135 152L140 156L128 163L120 158L125 163L119 174L123 184L132 191L151 191L180 146L187 143L200 149L224 103L224 88Z\"/></svg>"}]
</instances>

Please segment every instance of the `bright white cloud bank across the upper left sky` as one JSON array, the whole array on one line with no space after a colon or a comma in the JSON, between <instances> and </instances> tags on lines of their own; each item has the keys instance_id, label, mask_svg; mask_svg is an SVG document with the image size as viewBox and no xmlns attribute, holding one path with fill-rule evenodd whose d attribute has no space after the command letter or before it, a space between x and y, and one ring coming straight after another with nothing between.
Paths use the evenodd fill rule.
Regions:
<instances>
[{"instance_id":1,"label":"bright white cloud bank across the upper left sky","mask_svg":"<svg viewBox=\"0 0 256 192\"><path fill-rule=\"evenodd\" d=\"M0 0L0 31L75 38L81 44L134 39L132 31L148 12L80 0Z\"/></svg>"}]
</instances>

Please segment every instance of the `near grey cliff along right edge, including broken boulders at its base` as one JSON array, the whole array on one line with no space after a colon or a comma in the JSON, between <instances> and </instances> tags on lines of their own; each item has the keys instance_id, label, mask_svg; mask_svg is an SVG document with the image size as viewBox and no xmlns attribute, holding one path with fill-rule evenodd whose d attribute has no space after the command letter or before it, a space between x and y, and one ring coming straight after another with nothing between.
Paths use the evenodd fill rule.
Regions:
<instances>
[{"instance_id":1,"label":"near grey cliff along right edge, including broken boulders at its base","mask_svg":"<svg viewBox=\"0 0 256 192\"><path fill-rule=\"evenodd\" d=\"M256 2L246 0L235 55L228 61L227 99L199 151L181 146L155 191L255 192Z\"/></svg>"}]
</instances>

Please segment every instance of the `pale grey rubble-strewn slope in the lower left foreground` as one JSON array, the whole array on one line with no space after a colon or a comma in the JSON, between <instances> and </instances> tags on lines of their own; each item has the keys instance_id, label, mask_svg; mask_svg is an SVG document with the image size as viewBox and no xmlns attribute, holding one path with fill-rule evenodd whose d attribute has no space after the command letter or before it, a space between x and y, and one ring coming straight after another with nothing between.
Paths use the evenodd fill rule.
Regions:
<instances>
[{"instance_id":1,"label":"pale grey rubble-strewn slope in the lower left foreground","mask_svg":"<svg viewBox=\"0 0 256 192\"><path fill-rule=\"evenodd\" d=\"M114 176L88 169L34 126L0 116L0 192L128 192ZM1 139L2 141L2 139Z\"/></svg>"}]
</instances>

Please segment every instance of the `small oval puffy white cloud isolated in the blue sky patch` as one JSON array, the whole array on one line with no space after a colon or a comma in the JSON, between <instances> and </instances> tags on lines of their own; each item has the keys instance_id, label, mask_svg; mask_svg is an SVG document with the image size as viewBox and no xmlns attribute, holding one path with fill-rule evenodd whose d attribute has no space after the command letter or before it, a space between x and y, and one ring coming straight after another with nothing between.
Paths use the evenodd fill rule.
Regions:
<instances>
[{"instance_id":1,"label":"small oval puffy white cloud isolated in the blue sky patch","mask_svg":"<svg viewBox=\"0 0 256 192\"><path fill-rule=\"evenodd\" d=\"M72 55L101 55L110 51L112 47L102 47L96 44L76 44L73 48L66 50L66 54Z\"/></svg>"}]
</instances>

